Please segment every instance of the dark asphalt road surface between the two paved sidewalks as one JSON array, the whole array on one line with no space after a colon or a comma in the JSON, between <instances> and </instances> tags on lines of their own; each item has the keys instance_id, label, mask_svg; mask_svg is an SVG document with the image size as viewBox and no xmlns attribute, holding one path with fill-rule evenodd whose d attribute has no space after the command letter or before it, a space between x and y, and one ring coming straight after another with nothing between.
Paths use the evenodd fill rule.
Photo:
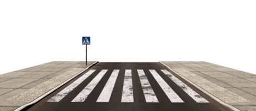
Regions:
<instances>
[{"instance_id":1,"label":"dark asphalt road surface between the two paved sidewalks","mask_svg":"<svg viewBox=\"0 0 256 111\"><path fill-rule=\"evenodd\" d=\"M69 91L69 93L66 93L66 96L64 95L58 95L59 98L62 98L61 100L52 99L56 94L61 92L64 88L68 87L69 84L72 84L75 82L78 78L82 77L82 75L89 72L91 69L96 69L91 75L88 75L86 79L82 80L80 84L77 85L77 87L74 87L73 90ZM106 73L103 72L104 69ZM113 71L115 69L119 69L119 72L116 73L116 79L114 79ZM129 70L131 71L129 73ZM142 79L143 73L139 74L138 69L142 69L147 79L144 82L150 83L147 84L147 86L150 86L151 93L145 93L144 90L146 88L142 88ZM152 70L151 70L152 69ZM199 95L201 95L203 99L207 100L207 103L200 103L196 102L195 99L190 97L190 95L184 90L179 87L172 79L168 77L165 73L161 71L161 69L165 69L168 72L172 73L176 78L178 78L180 81L182 81L184 84L186 84L189 88L193 89L194 92L197 92ZM150 71L151 70L151 71ZM157 72L158 74L153 74L153 72ZM91 70L92 71L92 70ZM113 77L112 77L113 74ZM131 74L131 76L129 75ZM98 75L98 77L97 77ZM100 75L103 77L101 78ZM163 79L156 79L158 75L159 77L162 77ZM110 78L111 77L111 78ZM99 78L99 79L94 79ZM110 79L110 80L109 80ZM99 80L99 82L97 82ZM107 82L110 81L108 85ZM116 80L116 82L115 82ZM165 82L161 81L164 80L168 86L174 90L174 93L177 94L177 98L175 98L175 94L172 94L172 96L168 96L170 92L170 88L164 88L168 87L167 85L164 85ZM93 82L91 82L93 81ZM91 82L91 83L90 83ZM162 82L162 83L159 83ZM165 83L165 84L166 84ZM88 85L89 84L89 85ZM106 92L109 92L109 88L111 88L111 84L113 84L113 90L112 93L102 93L104 87L106 86ZM144 84L144 83L143 83ZM88 87L88 86L89 87ZM95 85L95 87L93 87ZM127 87L128 86L128 87ZM131 87L132 86L132 87ZM128 89L127 89L127 88ZM89 92L87 89L92 89L91 92ZM148 87L147 87L148 88ZM81 92L84 89L84 92ZM152 94L153 89L153 94ZM167 93L166 90L169 90ZM126 95L123 91L127 91L129 94ZM86 93L87 92L87 93ZM89 92L89 93L88 93ZM102 93L102 95L101 95ZM147 97L144 96L144 94L148 94ZM79 96L80 97L79 97ZM81 102L81 99L86 95L87 98L83 99ZM100 102L101 100L99 97L107 98L109 99L101 99L101 100L107 100L108 102ZM110 96L111 95L111 96ZM154 98L157 99L154 99ZM76 99L75 99L76 98ZM179 99L180 98L180 99ZM133 99L133 100L132 100ZM152 102L147 102L147 100L151 100ZM47 100L52 100L55 102L47 102ZM58 102L56 102L56 100ZM76 101L77 100L77 101ZM80 100L80 101L79 101ZM72 102L73 101L73 102ZM74 102L76 101L76 102ZM79 101L79 102L78 102ZM222 107L219 103L215 102L214 99L208 97L208 95L204 94L197 88L193 87L193 85L186 82L184 79L180 78L178 75L173 73L171 70L169 70L164 65L160 64L159 62L99 62L96 65L93 65L93 67L86 70L86 72L83 72L82 74L78 75L78 77L72 79L67 84L64 84L62 87L58 88L51 94L49 94L47 97L43 98L36 104L34 104L32 107L27 109L29 111L31 110L203 110L203 111L217 111L217 110L228 110L227 108Z\"/></svg>"}]
</instances>

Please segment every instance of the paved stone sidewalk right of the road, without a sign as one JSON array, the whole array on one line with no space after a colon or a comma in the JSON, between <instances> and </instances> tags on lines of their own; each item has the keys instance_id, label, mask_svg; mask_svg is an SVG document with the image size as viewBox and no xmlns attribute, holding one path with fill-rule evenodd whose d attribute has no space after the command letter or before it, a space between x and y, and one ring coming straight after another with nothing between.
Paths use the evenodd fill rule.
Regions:
<instances>
[{"instance_id":1,"label":"paved stone sidewalk right of the road, without a sign","mask_svg":"<svg viewBox=\"0 0 256 111\"><path fill-rule=\"evenodd\" d=\"M256 74L206 61L159 62L229 109L256 110Z\"/></svg>"}]
</instances>

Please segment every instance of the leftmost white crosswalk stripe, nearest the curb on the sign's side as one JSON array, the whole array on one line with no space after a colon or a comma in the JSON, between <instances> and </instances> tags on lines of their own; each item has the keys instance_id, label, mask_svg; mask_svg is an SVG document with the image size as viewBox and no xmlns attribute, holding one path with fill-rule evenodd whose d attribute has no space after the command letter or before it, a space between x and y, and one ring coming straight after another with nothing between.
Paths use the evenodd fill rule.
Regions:
<instances>
[{"instance_id":1,"label":"leftmost white crosswalk stripe, nearest the curb on the sign's side","mask_svg":"<svg viewBox=\"0 0 256 111\"><path fill-rule=\"evenodd\" d=\"M83 82L89 75L91 75L96 69L89 70L86 74L82 75L72 84L69 84L68 87L64 88L58 94L54 95L51 99L47 100L47 102L59 102L62 98L64 98L69 92L71 92L74 88L77 87L80 83Z\"/></svg>"}]
</instances>

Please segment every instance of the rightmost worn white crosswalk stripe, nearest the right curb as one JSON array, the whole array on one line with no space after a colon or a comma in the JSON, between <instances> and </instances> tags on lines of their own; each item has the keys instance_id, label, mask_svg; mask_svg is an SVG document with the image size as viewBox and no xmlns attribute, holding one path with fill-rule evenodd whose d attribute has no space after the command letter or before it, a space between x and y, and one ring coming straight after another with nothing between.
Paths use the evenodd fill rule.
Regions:
<instances>
[{"instance_id":1,"label":"rightmost worn white crosswalk stripe, nearest the right curb","mask_svg":"<svg viewBox=\"0 0 256 111\"><path fill-rule=\"evenodd\" d=\"M180 88L184 90L185 93L187 93L191 98L195 100L197 103L209 103L206 99L204 99L201 95L199 95L197 92L195 92L193 89L189 88L188 85L184 84L182 81L180 81L178 78L174 77L173 74L168 72L165 69L161 69L161 71L167 75L170 79L173 80L175 84L177 84Z\"/></svg>"}]
</instances>

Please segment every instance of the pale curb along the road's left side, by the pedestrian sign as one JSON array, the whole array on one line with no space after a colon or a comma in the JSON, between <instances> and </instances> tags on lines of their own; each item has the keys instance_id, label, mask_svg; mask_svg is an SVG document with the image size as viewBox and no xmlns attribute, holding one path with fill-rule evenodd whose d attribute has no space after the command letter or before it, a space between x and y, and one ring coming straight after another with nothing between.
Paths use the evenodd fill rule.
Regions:
<instances>
[{"instance_id":1,"label":"pale curb along the road's left side, by the pedestrian sign","mask_svg":"<svg viewBox=\"0 0 256 111\"><path fill-rule=\"evenodd\" d=\"M65 82L59 84L57 87L53 88L52 90L49 90L48 92L44 93L43 95L41 95L40 97L38 97L37 99L34 99L32 102L27 103L22 105L21 107L13 110L13 111L20 111L20 110L24 110L27 109L28 107L32 107L32 105L36 104L39 100L43 99L44 97L46 97L48 94L54 92L54 90L58 89L59 87L62 87L62 85L66 84L67 82L69 82L70 80L72 80L73 78L77 77L79 74L83 73L84 71L86 71L87 69L91 68L92 65L98 63L99 60L97 60L96 62L94 62L93 64L89 65L86 69L82 70L81 72L77 73L76 75L74 75L73 77L69 78L68 80L66 80Z\"/></svg>"}]
</instances>

